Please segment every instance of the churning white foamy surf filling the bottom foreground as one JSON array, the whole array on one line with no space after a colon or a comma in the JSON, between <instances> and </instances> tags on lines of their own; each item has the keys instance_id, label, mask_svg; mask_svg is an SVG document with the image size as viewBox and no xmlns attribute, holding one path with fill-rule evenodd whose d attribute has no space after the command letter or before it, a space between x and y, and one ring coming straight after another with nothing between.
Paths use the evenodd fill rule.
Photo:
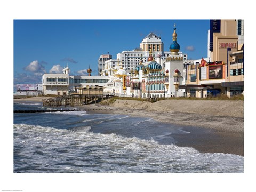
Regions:
<instances>
[{"instance_id":1,"label":"churning white foamy surf filling the bottom foreground","mask_svg":"<svg viewBox=\"0 0 256 192\"><path fill-rule=\"evenodd\" d=\"M27 124L13 127L14 172L243 172L242 156L202 154L154 139L93 133L90 126L71 130Z\"/></svg>"}]
</instances>

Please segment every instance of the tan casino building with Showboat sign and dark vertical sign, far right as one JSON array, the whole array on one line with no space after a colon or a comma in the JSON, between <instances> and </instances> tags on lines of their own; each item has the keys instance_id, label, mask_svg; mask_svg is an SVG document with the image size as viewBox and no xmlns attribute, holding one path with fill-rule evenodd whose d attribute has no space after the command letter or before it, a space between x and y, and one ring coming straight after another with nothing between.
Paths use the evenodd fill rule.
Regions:
<instances>
[{"instance_id":1,"label":"tan casino building with Showboat sign and dark vertical sign, far right","mask_svg":"<svg viewBox=\"0 0 256 192\"><path fill-rule=\"evenodd\" d=\"M186 65L186 97L244 93L243 20L210 20L208 58Z\"/></svg>"}]
</instances>

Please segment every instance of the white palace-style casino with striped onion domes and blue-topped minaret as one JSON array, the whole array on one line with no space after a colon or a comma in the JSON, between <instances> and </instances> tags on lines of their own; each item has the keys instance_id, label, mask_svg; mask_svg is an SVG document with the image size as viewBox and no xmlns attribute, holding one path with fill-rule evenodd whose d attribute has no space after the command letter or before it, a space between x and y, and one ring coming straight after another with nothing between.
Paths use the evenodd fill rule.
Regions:
<instances>
[{"instance_id":1,"label":"white palace-style casino with striped onion domes and blue-topped minaret","mask_svg":"<svg viewBox=\"0 0 256 192\"><path fill-rule=\"evenodd\" d=\"M116 66L108 66L105 62L106 69L103 70L102 75L109 78L106 92L141 98L184 96L184 91L178 89L179 85L185 83L183 55L179 54L180 45L177 42L175 25L173 30L173 42L166 59L162 58L161 52L158 52L155 57L152 49L154 46L150 46L146 62L141 58L139 65L131 70L127 70L119 60Z\"/></svg>"}]
</instances>

